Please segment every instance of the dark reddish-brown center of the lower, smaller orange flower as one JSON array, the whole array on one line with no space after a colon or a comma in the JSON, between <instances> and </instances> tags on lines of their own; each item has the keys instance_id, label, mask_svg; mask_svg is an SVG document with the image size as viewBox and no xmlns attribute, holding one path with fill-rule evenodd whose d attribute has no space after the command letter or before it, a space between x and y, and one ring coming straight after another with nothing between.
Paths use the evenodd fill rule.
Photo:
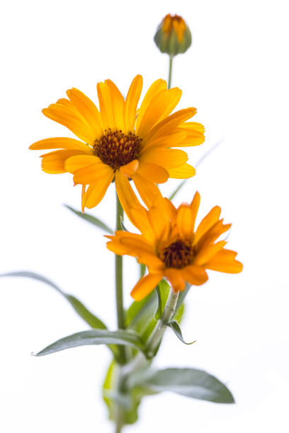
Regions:
<instances>
[{"instance_id":1,"label":"dark reddish-brown center of the lower, smaller orange flower","mask_svg":"<svg viewBox=\"0 0 289 433\"><path fill-rule=\"evenodd\" d=\"M195 253L191 243L188 241L177 241L162 249L159 253L159 258L164 262L166 267L182 267L191 265Z\"/></svg>"}]
</instances>

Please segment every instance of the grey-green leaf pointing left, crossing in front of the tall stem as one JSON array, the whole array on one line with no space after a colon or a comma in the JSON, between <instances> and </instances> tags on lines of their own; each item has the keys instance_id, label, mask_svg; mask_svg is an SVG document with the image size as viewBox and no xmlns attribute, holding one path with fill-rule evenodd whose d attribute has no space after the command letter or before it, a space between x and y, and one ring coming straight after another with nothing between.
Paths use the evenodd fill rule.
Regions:
<instances>
[{"instance_id":1,"label":"grey-green leaf pointing left, crossing in front of the tall stem","mask_svg":"<svg viewBox=\"0 0 289 433\"><path fill-rule=\"evenodd\" d=\"M53 342L52 345L40 350L40 352L35 354L35 356L41 357L46 354L69 349L71 347L88 345L128 345L130 347L134 347L137 350L143 349L140 335L132 331L108 331L103 329L93 329L61 338L60 340Z\"/></svg>"}]
</instances>

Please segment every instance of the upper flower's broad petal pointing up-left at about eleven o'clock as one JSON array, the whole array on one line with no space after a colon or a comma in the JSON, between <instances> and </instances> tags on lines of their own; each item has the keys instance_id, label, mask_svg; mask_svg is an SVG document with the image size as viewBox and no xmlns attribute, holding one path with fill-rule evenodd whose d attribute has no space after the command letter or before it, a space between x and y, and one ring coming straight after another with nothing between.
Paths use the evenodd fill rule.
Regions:
<instances>
[{"instance_id":1,"label":"upper flower's broad petal pointing up-left at about eleven o'clock","mask_svg":"<svg viewBox=\"0 0 289 433\"><path fill-rule=\"evenodd\" d=\"M101 120L101 115L92 100L77 88L69 89L67 91L67 96L94 131L95 138L101 137L103 134L103 122Z\"/></svg>"}]
</instances>

